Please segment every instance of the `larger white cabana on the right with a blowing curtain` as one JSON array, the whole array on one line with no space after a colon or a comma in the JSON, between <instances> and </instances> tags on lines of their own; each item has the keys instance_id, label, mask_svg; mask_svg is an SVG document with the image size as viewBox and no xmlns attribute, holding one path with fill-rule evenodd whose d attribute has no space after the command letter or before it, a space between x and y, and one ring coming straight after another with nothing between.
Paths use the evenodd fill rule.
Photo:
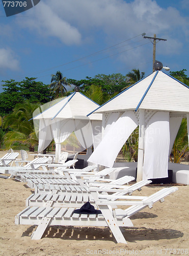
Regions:
<instances>
[{"instance_id":1,"label":"larger white cabana on the right with a blowing curtain","mask_svg":"<svg viewBox=\"0 0 189 256\"><path fill-rule=\"evenodd\" d=\"M139 125L137 180L168 177L169 156L183 117L189 127L188 89L156 71L90 113L102 114L102 141L88 161L112 167Z\"/></svg>"}]
</instances>

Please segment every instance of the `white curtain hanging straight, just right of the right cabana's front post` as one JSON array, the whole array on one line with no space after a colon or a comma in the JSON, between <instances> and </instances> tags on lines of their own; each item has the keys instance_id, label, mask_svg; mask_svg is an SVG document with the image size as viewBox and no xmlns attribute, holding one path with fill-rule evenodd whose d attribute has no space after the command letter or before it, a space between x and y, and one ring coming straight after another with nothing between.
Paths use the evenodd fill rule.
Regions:
<instances>
[{"instance_id":1,"label":"white curtain hanging straight, just right of the right cabana's front post","mask_svg":"<svg viewBox=\"0 0 189 256\"><path fill-rule=\"evenodd\" d=\"M156 112L145 130L143 180L168 177L169 112Z\"/></svg>"}]
</instances>

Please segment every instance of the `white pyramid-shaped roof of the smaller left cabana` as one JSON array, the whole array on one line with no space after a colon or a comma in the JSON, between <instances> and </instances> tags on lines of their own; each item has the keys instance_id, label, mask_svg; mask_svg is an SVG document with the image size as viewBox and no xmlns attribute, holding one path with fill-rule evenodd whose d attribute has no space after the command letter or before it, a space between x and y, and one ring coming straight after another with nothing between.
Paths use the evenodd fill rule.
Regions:
<instances>
[{"instance_id":1,"label":"white pyramid-shaped roof of the smaller left cabana","mask_svg":"<svg viewBox=\"0 0 189 256\"><path fill-rule=\"evenodd\" d=\"M87 115L94 111L99 105L79 92L74 92L63 98L50 108L35 116L33 119L86 119L102 120L101 114Z\"/></svg>"}]
</instances>

